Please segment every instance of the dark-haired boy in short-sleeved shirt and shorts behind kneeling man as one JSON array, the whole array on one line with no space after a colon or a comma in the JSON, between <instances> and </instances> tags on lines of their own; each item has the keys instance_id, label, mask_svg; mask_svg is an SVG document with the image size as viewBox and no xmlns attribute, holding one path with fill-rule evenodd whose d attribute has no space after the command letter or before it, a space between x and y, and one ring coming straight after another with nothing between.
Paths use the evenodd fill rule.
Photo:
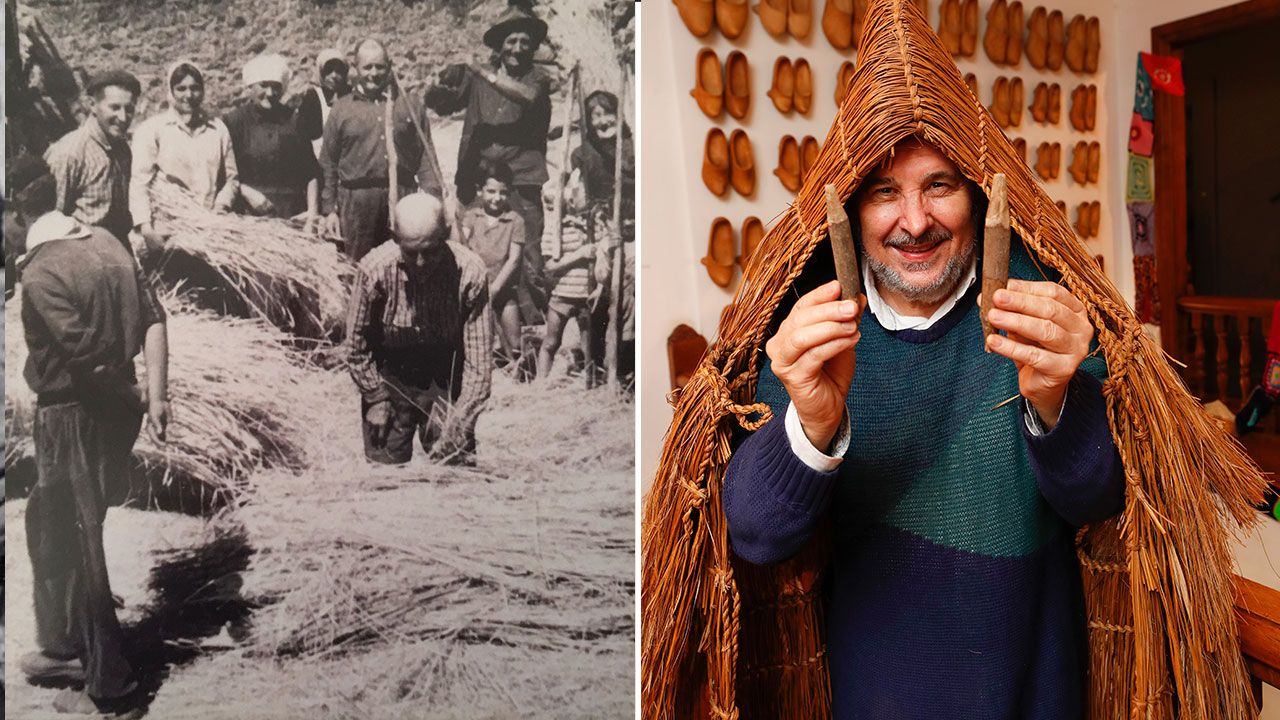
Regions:
<instances>
[{"instance_id":1,"label":"dark-haired boy in short-sleeved shirt and shorts behind kneeling man","mask_svg":"<svg viewBox=\"0 0 1280 720\"><path fill-rule=\"evenodd\" d=\"M525 245L525 220L511 209L512 170L500 160L480 164L480 192L476 206L462 215L462 237L484 260L489 273L489 299L498 320L498 341L503 352L520 355L520 305L516 302L517 268Z\"/></svg>"}]
</instances>

